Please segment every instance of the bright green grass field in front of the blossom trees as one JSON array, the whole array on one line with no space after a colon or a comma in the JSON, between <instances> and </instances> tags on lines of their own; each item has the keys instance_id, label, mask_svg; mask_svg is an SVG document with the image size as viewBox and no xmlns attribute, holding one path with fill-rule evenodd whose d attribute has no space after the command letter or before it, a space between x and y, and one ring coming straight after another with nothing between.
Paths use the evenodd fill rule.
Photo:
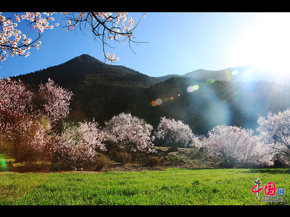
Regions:
<instances>
[{"instance_id":1,"label":"bright green grass field in front of the blossom trees","mask_svg":"<svg viewBox=\"0 0 290 217\"><path fill-rule=\"evenodd\" d=\"M2 205L290 205L290 169L181 169L146 172L0 173ZM261 202L254 180L284 188ZM277 193L276 193L277 195Z\"/></svg>"}]
</instances>

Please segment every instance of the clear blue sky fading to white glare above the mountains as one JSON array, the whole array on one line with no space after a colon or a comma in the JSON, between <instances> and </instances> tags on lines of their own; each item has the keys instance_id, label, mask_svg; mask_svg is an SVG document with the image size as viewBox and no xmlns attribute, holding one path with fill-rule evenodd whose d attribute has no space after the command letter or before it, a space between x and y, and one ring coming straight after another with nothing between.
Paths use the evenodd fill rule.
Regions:
<instances>
[{"instance_id":1,"label":"clear blue sky fading to white glare above the mountains","mask_svg":"<svg viewBox=\"0 0 290 217\"><path fill-rule=\"evenodd\" d=\"M146 11L145 11L146 12ZM21 13L19 13L21 14ZM5 17L9 13L2 14ZM142 13L129 13L136 21ZM61 14L55 21L64 24ZM246 64L288 73L290 59L290 13L146 13L134 35L139 45L115 44L114 53L123 65L149 76L185 74L197 69L221 70ZM54 25L55 26L55 25ZM29 36L21 21L16 27ZM26 29L26 31L25 31ZM30 56L8 57L0 62L0 77L26 74L59 65L81 54L104 61L102 46L90 31L69 31L61 27L45 30L39 50ZM31 30L36 34L35 30ZM113 44L114 45L114 44ZM110 63L106 61L106 63ZM289 68L289 67L288 67Z\"/></svg>"}]
</instances>

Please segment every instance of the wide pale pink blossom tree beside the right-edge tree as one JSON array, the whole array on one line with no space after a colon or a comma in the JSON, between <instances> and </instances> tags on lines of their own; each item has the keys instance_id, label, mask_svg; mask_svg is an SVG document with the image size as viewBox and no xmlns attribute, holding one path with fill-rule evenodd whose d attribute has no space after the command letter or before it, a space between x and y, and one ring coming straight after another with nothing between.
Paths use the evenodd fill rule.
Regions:
<instances>
[{"instance_id":1,"label":"wide pale pink blossom tree beside the right-edge tree","mask_svg":"<svg viewBox=\"0 0 290 217\"><path fill-rule=\"evenodd\" d=\"M272 155L254 131L236 126L218 125L209 131L206 150L209 157L223 159L228 168L237 163L272 165Z\"/></svg>"}]
</instances>

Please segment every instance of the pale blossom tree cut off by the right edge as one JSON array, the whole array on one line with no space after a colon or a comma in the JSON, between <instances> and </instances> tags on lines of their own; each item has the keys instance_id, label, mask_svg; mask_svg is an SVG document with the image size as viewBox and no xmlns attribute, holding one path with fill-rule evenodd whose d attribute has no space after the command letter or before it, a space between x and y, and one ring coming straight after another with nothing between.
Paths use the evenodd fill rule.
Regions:
<instances>
[{"instance_id":1,"label":"pale blossom tree cut off by the right edge","mask_svg":"<svg viewBox=\"0 0 290 217\"><path fill-rule=\"evenodd\" d=\"M281 162L290 164L290 110L269 112L257 121L261 137L268 143L268 153L277 154Z\"/></svg>"}]
</instances>

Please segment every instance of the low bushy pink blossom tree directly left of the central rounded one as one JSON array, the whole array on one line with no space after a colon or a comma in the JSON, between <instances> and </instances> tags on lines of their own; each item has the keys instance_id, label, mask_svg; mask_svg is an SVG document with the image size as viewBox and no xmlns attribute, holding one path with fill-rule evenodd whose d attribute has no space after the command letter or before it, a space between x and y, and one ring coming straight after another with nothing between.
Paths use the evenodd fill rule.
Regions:
<instances>
[{"instance_id":1,"label":"low bushy pink blossom tree directly left of the central rounded one","mask_svg":"<svg viewBox=\"0 0 290 217\"><path fill-rule=\"evenodd\" d=\"M78 123L79 126L64 125L61 136L54 136L52 142L52 163L55 167L69 168L92 165L97 150L106 151L104 138L100 135L98 123Z\"/></svg>"}]
</instances>

